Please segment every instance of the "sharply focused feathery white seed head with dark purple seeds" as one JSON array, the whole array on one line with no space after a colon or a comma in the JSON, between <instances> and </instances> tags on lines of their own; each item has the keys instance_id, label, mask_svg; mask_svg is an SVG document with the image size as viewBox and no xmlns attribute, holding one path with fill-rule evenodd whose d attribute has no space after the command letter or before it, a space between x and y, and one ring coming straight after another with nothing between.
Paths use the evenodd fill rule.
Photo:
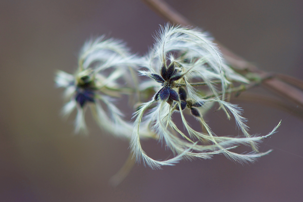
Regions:
<instances>
[{"instance_id":1,"label":"sharply focused feathery white seed head with dark purple seeds","mask_svg":"<svg viewBox=\"0 0 303 202\"><path fill-rule=\"evenodd\" d=\"M141 66L146 70L139 71L140 74L153 80L143 82L139 89L152 88L157 93L151 101L143 103L135 112L131 148L137 161L143 161L144 165L155 169L163 165L173 165L183 158L208 159L213 154L224 154L233 161L247 163L254 162L258 157L270 152L258 153L257 144L275 133L281 122L266 136L252 136L248 133L246 119L241 116L241 108L224 101L224 98L228 84L232 81L249 81L224 63L221 52L207 34L198 29L167 24L161 27L155 36L154 47L144 57ZM220 89L216 84L218 80ZM191 84L193 81L205 83L214 96L202 97L198 89ZM206 111L209 104L215 102L225 111L228 119L230 114L234 116L244 137L216 136L211 131L203 119L202 112ZM207 132L195 131L185 119L183 111L190 111ZM178 113L183 126L177 126L172 121L172 116L178 116ZM171 149L175 157L164 161L149 157L140 144L141 125L148 125L158 140ZM185 132L180 129L183 127ZM247 154L230 151L240 144L251 146L253 151Z\"/></svg>"}]
</instances>

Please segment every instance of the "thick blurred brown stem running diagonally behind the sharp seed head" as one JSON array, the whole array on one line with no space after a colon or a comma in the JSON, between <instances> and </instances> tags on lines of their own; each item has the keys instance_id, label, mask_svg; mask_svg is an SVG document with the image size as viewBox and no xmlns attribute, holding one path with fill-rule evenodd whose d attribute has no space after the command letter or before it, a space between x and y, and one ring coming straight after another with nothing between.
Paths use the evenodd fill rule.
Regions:
<instances>
[{"instance_id":1,"label":"thick blurred brown stem running diagonally behind the sharp seed head","mask_svg":"<svg viewBox=\"0 0 303 202\"><path fill-rule=\"evenodd\" d=\"M166 2L162 0L142 0L142 1L145 2L148 6L150 6L152 10L157 12L159 15L161 15L163 18L165 18L172 24L178 24L183 26L195 26L183 15L178 13L175 9L171 8L170 5L168 5ZM239 70L247 70L250 72L257 73L259 75L266 74L266 72L258 69L255 65L252 65L248 61L245 61L240 56L228 50L228 48L223 46L218 41L215 41L215 43L218 44L223 54L223 57L233 68ZM283 80L285 81L285 79ZM295 103L303 107L303 92L299 91L295 87L288 85L283 81L279 81L276 78L265 80L262 84L265 87L274 90L275 92L278 92L278 94L287 98L288 100L294 101Z\"/></svg>"}]
</instances>

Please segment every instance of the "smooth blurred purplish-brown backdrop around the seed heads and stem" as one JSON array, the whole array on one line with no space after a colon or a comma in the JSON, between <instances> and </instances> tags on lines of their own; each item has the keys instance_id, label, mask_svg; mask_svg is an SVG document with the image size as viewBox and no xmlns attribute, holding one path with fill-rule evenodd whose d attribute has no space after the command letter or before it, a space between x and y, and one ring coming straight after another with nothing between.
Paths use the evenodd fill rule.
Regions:
<instances>
[{"instance_id":1,"label":"smooth blurred purplish-brown backdrop around the seed heads and stem","mask_svg":"<svg viewBox=\"0 0 303 202\"><path fill-rule=\"evenodd\" d=\"M303 79L302 1L166 2L261 69ZM139 0L0 2L0 201L301 201L302 119L240 101L232 103L244 109L251 134L265 135L282 120L260 145L271 154L243 166L223 155L156 171L136 164L118 187L108 185L129 144L102 132L90 113L89 136L75 135L75 113L60 116L54 72L73 73L83 43L102 34L143 55L159 25L165 21ZM206 119L216 134L238 134L221 111ZM155 141L142 145L151 157L169 155Z\"/></svg>"}]
</instances>

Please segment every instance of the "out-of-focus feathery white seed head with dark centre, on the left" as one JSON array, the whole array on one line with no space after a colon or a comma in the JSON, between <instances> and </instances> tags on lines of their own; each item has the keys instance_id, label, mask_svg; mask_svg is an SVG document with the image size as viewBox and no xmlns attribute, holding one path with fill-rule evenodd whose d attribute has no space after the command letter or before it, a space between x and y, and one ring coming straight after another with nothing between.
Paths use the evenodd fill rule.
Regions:
<instances>
[{"instance_id":1,"label":"out-of-focus feathery white seed head with dark centre, on the left","mask_svg":"<svg viewBox=\"0 0 303 202\"><path fill-rule=\"evenodd\" d=\"M76 132L87 132L84 114L89 107L103 129L120 137L131 136L132 124L123 120L122 112L113 102L115 97L133 93L135 69L139 61L136 55L129 53L122 41L105 40L101 36L85 43L74 75L64 71L56 73L55 82L58 87L66 88L65 98L69 100L63 107L63 114L69 115L77 109Z\"/></svg>"}]
</instances>

